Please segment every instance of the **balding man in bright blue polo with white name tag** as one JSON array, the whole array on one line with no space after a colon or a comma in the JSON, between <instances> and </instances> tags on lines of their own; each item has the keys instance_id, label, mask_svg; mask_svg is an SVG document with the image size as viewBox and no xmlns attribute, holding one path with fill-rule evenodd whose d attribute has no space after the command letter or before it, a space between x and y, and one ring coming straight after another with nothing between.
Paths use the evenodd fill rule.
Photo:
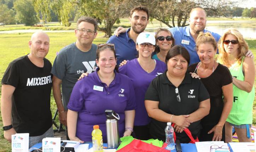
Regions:
<instances>
[{"instance_id":1,"label":"balding man in bright blue polo with white name tag","mask_svg":"<svg viewBox=\"0 0 256 152\"><path fill-rule=\"evenodd\" d=\"M220 35L208 30L204 30L206 25L206 12L203 8L194 8L190 12L189 26L169 28L175 39L175 45L182 45L190 54L190 64L200 62L196 51L196 39L199 32L210 32L219 41Z\"/></svg>"}]
</instances>

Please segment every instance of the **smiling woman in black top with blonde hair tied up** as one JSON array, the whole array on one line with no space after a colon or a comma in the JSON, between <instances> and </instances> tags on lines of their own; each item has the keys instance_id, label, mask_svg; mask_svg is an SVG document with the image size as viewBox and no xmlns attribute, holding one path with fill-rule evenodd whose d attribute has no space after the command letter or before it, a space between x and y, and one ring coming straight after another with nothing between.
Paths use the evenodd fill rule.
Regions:
<instances>
[{"instance_id":1,"label":"smiling woman in black top with blonde hair tied up","mask_svg":"<svg viewBox=\"0 0 256 152\"><path fill-rule=\"evenodd\" d=\"M210 113L201 120L200 141L225 141L225 122L232 108L232 77L227 67L215 61L217 44L210 33L200 32L196 50L201 62L188 67L203 82L210 95Z\"/></svg>"}]
</instances>

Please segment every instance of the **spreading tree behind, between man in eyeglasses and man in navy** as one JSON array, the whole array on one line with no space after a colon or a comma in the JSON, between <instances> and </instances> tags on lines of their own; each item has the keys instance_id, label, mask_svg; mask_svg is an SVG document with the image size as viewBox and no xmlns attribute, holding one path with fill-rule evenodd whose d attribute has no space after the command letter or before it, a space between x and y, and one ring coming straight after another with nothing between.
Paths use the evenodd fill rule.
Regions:
<instances>
[{"instance_id":1,"label":"spreading tree behind, between man in eyeglasses and man in navy","mask_svg":"<svg viewBox=\"0 0 256 152\"><path fill-rule=\"evenodd\" d=\"M98 28L105 32L105 37L112 35L112 27L116 20L129 10L128 0L73 0L81 15L98 18L104 23L104 27Z\"/></svg>"}]
</instances>

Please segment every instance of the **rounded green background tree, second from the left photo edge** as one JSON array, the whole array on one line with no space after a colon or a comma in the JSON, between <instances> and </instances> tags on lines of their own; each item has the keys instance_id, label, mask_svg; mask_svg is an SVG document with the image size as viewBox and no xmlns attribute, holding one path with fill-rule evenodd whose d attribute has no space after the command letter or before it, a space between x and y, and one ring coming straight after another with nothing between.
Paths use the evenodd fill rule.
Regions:
<instances>
[{"instance_id":1,"label":"rounded green background tree, second from the left photo edge","mask_svg":"<svg viewBox=\"0 0 256 152\"><path fill-rule=\"evenodd\" d=\"M39 20L36 18L36 12L32 6L32 0L16 0L13 5L16 11L16 19L26 26L36 24Z\"/></svg>"}]
</instances>

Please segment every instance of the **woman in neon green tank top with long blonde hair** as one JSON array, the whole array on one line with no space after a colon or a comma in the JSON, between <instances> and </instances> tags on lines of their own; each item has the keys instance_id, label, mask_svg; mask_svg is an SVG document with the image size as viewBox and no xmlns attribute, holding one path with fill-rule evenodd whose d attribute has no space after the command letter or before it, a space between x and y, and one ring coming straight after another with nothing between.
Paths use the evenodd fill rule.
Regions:
<instances>
[{"instance_id":1,"label":"woman in neon green tank top with long blonde hair","mask_svg":"<svg viewBox=\"0 0 256 152\"><path fill-rule=\"evenodd\" d=\"M245 57L248 44L235 28L228 28L219 40L218 61L226 65L233 79L233 106L225 123L226 142L232 142L232 126L239 142L251 142L252 106L255 96L254 61Z\"/></svg>"}]
</instances>

